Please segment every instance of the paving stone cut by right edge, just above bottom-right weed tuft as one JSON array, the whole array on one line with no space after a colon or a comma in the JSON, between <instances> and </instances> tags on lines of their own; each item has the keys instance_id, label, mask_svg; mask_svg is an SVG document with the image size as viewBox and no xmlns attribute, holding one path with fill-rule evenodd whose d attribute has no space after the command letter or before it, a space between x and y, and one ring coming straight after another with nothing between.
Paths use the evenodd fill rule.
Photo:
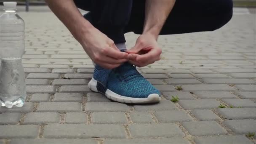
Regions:
<instances>
[{"instance_id":1,"label":"paving stone cut by right edge, just above bottom-right weed tuft","mask_svg":"<svg viewBox=\"0 0 256 144\"><path fill-rule=\"evenodd\" d=\"M236 134L256 132L256 120L226 120L223 123Z\"/></svg>"}]
</instances>

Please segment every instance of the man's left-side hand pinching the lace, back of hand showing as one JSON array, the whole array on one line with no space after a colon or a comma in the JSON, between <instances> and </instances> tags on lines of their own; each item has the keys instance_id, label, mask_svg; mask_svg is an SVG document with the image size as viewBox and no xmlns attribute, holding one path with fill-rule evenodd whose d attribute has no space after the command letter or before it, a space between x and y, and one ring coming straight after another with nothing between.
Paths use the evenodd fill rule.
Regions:
<instances>
[{"instance_id":1,"label":"man's left-side hand pinching the lace, back of hand showing","mask_svg":"<svg viewBox=\"0 0 256 144\"><path fill-rule=\"evenodd\" d=\"M128 61L128 53L121 52L113 40L96 28L81 32L79 42L90 58L101 67L113 69Z\"/></svg>"}]
</instances>

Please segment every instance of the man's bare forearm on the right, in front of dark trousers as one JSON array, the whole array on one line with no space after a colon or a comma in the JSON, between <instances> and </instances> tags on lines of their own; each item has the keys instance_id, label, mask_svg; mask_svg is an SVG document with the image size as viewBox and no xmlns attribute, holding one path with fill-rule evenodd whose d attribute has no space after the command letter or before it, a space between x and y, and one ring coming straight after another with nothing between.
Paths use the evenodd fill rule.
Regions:
<instances>
[{"instance_id":1,"label":"man's bare forearm on the right, in front of dark trousers","mask_svg":"<svg viewBox=\"0 0 256 144\"><path fill-rule=\"evenodd\" d=\"M150 33L157 39L175 0L146 0L143 33Z\"/></svg>"}]
</instances>

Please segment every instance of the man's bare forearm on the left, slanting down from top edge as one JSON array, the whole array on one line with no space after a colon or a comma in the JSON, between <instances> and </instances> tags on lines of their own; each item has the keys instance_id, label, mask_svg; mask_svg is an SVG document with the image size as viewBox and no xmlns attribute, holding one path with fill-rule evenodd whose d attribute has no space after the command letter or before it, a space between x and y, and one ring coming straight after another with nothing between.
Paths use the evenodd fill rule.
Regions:
<instances>
[{"instance_id":1,"label":"man's bare forearm on the left, slanting down from top edge","mask_svg":"<svg viewBox=\"0 0 256 144\"><path fill-rule=\"evenodd\" d=\"M83 31L93 27L78 11L73 0L45 0L45 2L78 41Z\"/></svg>"}]
</instances>

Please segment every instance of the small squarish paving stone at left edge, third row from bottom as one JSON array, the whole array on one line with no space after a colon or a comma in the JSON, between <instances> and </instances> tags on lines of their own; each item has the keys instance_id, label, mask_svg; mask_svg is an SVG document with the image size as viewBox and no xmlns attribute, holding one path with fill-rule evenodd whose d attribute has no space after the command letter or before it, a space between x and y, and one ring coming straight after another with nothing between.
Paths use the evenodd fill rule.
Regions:
<instances>
[{"instance_id":1,"label":"small squarish paving stone at left edge, third row from bottom","mask_svg":"<svg viewBox=\"0 0 256 144\"><path fill-rule=\"evenodd\" d=\"M0 125L5 124L17 124L21 119L21 113L16 112L4 112L0 114Z\"/></svg>"}]
</instances>

